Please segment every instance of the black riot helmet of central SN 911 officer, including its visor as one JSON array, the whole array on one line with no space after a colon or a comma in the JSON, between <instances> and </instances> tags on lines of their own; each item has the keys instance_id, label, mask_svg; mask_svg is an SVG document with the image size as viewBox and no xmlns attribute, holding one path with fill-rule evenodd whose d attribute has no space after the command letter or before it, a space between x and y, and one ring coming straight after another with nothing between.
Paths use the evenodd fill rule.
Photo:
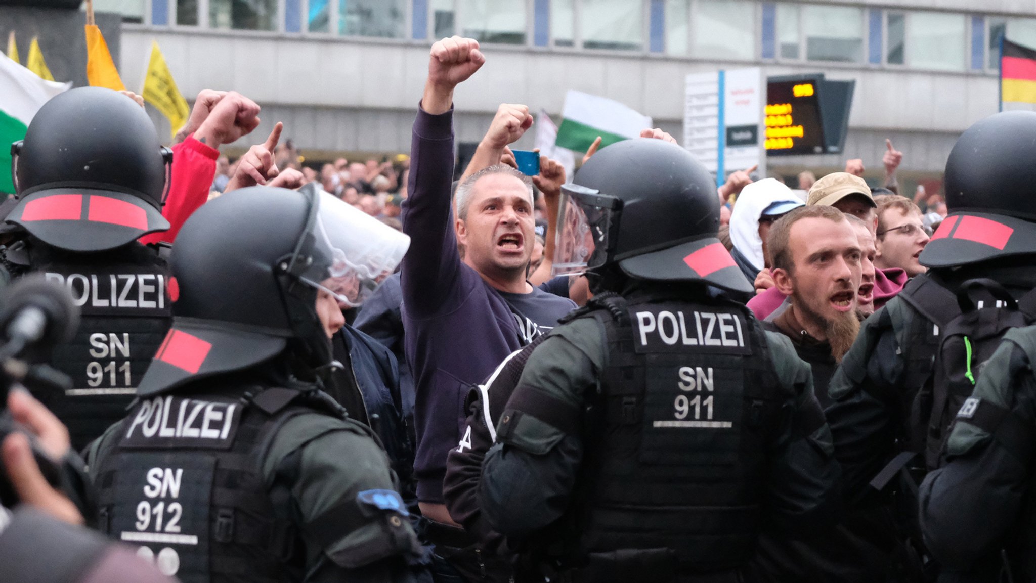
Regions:
<instances>
[{"instance_id":1,"label":"black riot helmet of central SN 911 officer, including its visor","mask_svg":"<svg viewBox=\"0 0 1036 583\"><path fill-rule=\"evenodd\" d=\"M718 229L716 183L694 156L662 140L625 140L594 154L574 183L562 186L553 271L617 265L639 280L751 292Z\"/></svg>"}]
</instances>

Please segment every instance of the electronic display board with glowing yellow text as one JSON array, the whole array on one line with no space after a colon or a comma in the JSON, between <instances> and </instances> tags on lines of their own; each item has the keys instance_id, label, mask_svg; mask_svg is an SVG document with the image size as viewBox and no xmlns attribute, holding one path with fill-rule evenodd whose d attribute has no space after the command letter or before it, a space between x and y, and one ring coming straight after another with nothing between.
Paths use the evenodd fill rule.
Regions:
<instances>
[{"instance_id":1,"label":"electronic display board with glowing yellow text","mask_svg":"<svg viewBox=\"0 0 1036 583\"><path fill-rule=\"evenodd\" d=\"M826 151L821 114L823 77L771 78L767 83L767 155Z\"/></svg>"}]
</instances>

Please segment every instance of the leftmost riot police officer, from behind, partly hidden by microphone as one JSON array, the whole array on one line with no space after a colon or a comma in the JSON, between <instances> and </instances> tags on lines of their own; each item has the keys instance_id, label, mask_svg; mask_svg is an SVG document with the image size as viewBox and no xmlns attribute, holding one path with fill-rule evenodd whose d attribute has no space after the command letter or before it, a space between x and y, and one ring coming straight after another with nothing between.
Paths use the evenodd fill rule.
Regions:
<instances>
[{"instance_id":1,"label":"leftmost riot police officer, from behind, partly hidden by microphone","mask_svg":"<svg viewBox=\"0 0 1036 583\"><path fill-rule=\"evenodd\" d=\"M82 311L52 361L71 378L36 397L83 448L125 413L170 322L166 261L137 239L163 231L172 151L133 99L96 87L48 101L11 147L18 204L7 221L27 236L2 250L9 275L67 287Z\"/></svg>"}]
</instances>

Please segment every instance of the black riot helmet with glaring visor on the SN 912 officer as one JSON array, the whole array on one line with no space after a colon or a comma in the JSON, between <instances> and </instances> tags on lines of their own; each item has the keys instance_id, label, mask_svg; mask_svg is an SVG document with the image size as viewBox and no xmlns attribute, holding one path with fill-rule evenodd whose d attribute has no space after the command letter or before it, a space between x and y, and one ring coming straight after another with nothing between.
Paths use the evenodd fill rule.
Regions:
<instances>
[{"instance_id":1,"label":"black riot helmet with glaring visor on the SN 912 officer","mask_svg":"<svg viewBox=\"0 0 1036 583\"><path fill-rule=\"evenodd\" d=\"M366 228L355 227L357 214L315 183L299 192L242 188L199 208L173 246L173 325L138 395L246 369L285 350L312 369L329 365L318 290L356 304L369 281L392 273L402 259L402 253L385 259L369 247L346 249L352 239L343 233Z\"/></svg>"}]
</instances>

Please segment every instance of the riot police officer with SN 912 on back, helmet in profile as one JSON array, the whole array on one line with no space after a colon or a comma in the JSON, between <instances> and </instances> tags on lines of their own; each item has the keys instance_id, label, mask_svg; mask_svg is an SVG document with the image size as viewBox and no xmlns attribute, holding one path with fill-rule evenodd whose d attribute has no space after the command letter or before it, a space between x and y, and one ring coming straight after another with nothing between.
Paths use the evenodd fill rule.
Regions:
<instances>
[{"instance_id":1,"label":"riot police officer with SN 912 on back, helmet in profile","mask_svg":"<svg viewBox=\"0 0 1036 583\"><path fill-rule=\"evenodd\" d=\"M370 275L335 242L345 206L243 188L177 237L172 328L88 464L99 528L184 583L423 577L387 457L321 390Z\"/></svg>"}]
</instances>

